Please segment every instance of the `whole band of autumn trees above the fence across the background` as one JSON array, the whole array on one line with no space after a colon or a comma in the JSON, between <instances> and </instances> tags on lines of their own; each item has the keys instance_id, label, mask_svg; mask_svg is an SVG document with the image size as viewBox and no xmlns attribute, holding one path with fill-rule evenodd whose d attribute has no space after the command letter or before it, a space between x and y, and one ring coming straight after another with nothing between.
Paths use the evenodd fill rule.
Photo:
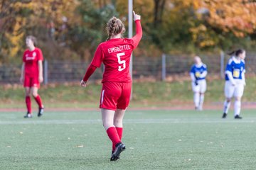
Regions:
<instances>
[{"instance_id":1,"label":"whole band of autumn trees above the fence across the background","mask_svg":"<svg viewBox=\"0 0 256 170\"><path fill-rule=\"evenodd\" d=\"M112 16L128 26L128 1L0 1L0 63L19 61L26 35L35 35L46 58L89 60L106 40ZM246 47L256 40L252 0L137 0L142 15L138 55Z\"/></svg>"}]
</instances>

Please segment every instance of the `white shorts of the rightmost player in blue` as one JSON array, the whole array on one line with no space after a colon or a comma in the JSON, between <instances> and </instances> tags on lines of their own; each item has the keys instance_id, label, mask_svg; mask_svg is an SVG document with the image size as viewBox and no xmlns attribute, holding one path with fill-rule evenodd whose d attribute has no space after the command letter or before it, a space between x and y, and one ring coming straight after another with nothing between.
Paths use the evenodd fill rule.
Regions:
<instances>
[{"instance_id":1,"label":"white shorts of the rightmost player in blue","mask_svg":"<svg viewBox=\"0 0 256 170\"><path fill-rule=\"evenodd\" d=\"M231 84L230 81L225 81L225 97L232 98L232 97L242 97L244 91L244 84L237 82L235 86Z\"/></svg>"}]
</instances>

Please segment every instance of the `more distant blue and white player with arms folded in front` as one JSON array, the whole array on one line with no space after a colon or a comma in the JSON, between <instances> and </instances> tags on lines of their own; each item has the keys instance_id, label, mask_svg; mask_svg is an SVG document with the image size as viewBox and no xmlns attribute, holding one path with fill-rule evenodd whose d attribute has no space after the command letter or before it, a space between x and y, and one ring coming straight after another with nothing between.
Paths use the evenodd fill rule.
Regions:
<instances>
[{"instance_id":1,"label":"more distant blue and white player with arms folded in front","mask_svg":"<svg viewBox=\"0 0 256 170\"><path fill-rule=\"evenodd\" d=\"M197 111L203 110L204 94L206 92L206 75L207 67L203 64L201 58L196 56L194 58L195 64L191 67L191 80L193 89L193 101Z\"/></svg>"}]
</instances>

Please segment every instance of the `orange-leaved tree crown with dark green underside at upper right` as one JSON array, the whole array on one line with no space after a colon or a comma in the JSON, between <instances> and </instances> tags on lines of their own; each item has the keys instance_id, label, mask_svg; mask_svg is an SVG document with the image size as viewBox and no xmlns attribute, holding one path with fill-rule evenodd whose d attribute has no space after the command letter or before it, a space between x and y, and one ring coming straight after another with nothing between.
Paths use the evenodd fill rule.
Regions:
<instances>
[{"instance_id":1,"label":"orange-leaved tree crown with dark green underside at upper right","mask_svg":"<svg viewBox=\"0 0 256 170\"><path fill-rule=\"evenodd\" d=\"M191 1L201 23L191 28L199 47L226 49L256 30L256 2L248 0Z\"/></svg>"}]
</instances>

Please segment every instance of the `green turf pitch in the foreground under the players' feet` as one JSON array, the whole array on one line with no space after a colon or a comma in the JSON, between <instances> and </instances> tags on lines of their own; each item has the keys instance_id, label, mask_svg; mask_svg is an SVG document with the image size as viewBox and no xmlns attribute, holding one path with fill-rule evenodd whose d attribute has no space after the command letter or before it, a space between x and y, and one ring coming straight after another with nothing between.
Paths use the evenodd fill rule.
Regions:
<instances>
[{"instance_id":1,"label":"green turf pitch in the foreground under the players' feet","mask_svg":"<svg viewBox=\"0 0 256 170\"><path fill-rule=\"evenodd\" d=\"M121 159L97 111L0 114L0 169L255 169L255 111L127 111Z\"/></svg>"}]
</instances>

